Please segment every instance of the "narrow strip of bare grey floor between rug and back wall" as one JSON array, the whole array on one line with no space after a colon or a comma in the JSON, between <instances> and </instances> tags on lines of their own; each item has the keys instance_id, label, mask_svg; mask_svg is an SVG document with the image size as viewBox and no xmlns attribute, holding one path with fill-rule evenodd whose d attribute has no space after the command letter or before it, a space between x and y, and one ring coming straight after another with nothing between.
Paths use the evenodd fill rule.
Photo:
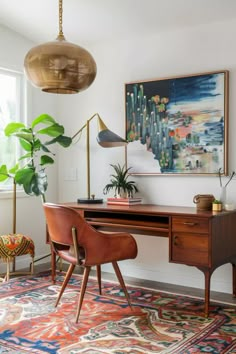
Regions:
<instances>
[{"instance_id":1,"label":"narrow strip of bare grey floor between rug and back wall","mask_svg":"<svg viewBox=\"0 0 236 354\"><path fill-rule=\"evenodd\" d=\"M63 270L67 270L67 266L65 264L62 265L62 267ZM50 263L35 265L35 273L49 270L49 269L50 269ZM75 273L81 274L82 271L83 269L81 267L77 267ZM91 274L96 275L96 272L92 271ZM115 280L115 281L117 280L115 275L107 272L102 272L102 278L104 280ZM197 296L197 297L204 298L204 290L201 289L180 286L180 285L173 285L168 283L160 283L157 281L137 279L137 278L125 277L125 276L124 276L124 280L126 284L130 284L130 285L141 286L141 287L156 289L160 291L167 291L175 294L177 293L177 294ZM236 305L236 298L234 298L231 294L211 291L211 300L216 302L226 302L232 305Z\"/></svg>"}]
</instances>

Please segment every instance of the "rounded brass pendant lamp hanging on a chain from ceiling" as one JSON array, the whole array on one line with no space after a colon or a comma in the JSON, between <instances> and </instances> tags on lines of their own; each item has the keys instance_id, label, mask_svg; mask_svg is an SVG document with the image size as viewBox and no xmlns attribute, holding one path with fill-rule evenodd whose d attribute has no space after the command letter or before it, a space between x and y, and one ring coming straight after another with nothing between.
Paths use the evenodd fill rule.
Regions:
<instances>
[{"instance_id":1,"label":"rounded brass pendant lamp hanging on a chain from ceiling","mask_svg":"<svg viewBox=\"0 0 236 354\"><path fill-rule=\"evenodd\" d=\"M78 93L92 84L97 67L86 49L66 41L62 30L62 12L62 0L59 0L58 37L27 53L25 72L28 80L44 92Z\"/></svg>"}]
</instances>

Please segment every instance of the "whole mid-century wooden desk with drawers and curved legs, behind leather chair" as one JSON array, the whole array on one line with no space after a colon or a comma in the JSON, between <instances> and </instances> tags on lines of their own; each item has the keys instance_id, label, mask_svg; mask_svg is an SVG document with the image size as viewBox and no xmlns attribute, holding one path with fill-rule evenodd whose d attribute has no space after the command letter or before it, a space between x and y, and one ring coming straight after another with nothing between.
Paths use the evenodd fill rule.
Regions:
<instances>
[{"instance_id":1,"label":"whole mid-century wooden desk with drawers and curved legs, behind leather chair","mask_svg":"<svg viewBox=\"0 0 236 354\"><path fill-rule=\"evenodd\" d=\"M78 211L100 231L168 237L169 261L197 267L204 273L206 316L209 314L211 275L225 263L233 266L233 296L236 296L236 210L216 213L151 204L63 205Z\"/></svg>"}]
</instances>

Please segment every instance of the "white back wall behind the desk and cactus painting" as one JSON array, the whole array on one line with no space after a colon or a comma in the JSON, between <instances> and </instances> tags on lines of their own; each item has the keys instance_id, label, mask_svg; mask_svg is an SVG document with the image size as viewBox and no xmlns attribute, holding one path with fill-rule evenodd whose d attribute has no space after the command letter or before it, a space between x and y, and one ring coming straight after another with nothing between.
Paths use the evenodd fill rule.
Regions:
<instances>
[{"instance_id":1,"label":"white back wall behind the desk and cactus painting","mask_svg":"<svg viewBox=\"0 0 236 354\"><path fill-rule=\"evenodd\" d=\"M230 71L229 167L230 170L236 169L235 36L236 21L232 21L87 47L97 62L97 78L79 95L62 97L58 102L58 115L73 134L93 113L99 112L111 130L124 136L124 83L227 69ZM125 154L123 148L106 150L97 146L95 122L91 129L91 192L102 197L103 187L112 172L109 164L123 163ZM68 181L65 169L71 168L72 172L76 169L78 178ZM219 195L216 177L142 176L136 177L136 181L147 203L194 206L195 194ZM228 193L236 203L236 180L231 182ZM86 196L84 137L69 152L60 152L59 199L76 201L78 196ZM150 236L137 236L136 239L139 246L137 259L121 264L126 275L203 288L200 271L168 263L167 239ZM231 292L230 265L215 271L212 289Z\"/></svg>"}]
</instances>

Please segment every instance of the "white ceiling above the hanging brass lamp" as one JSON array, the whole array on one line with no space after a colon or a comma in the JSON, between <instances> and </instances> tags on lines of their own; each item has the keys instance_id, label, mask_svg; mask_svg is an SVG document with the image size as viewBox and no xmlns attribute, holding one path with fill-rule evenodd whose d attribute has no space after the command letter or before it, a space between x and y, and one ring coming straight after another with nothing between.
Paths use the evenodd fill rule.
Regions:
<instances>
[{"instance_id":1,"label":"white ceiling above the hanging brass lamp","mask_svg":"<svg viewBox=\"0 0 236 354\"><path fill-rule=\"evenodd\" d=\"M63 32L80 44L236 18L236 0L64 0ZM0 24L41 43L58 34L58 0L0 0Z\"/></svg>"}]
</instances>

